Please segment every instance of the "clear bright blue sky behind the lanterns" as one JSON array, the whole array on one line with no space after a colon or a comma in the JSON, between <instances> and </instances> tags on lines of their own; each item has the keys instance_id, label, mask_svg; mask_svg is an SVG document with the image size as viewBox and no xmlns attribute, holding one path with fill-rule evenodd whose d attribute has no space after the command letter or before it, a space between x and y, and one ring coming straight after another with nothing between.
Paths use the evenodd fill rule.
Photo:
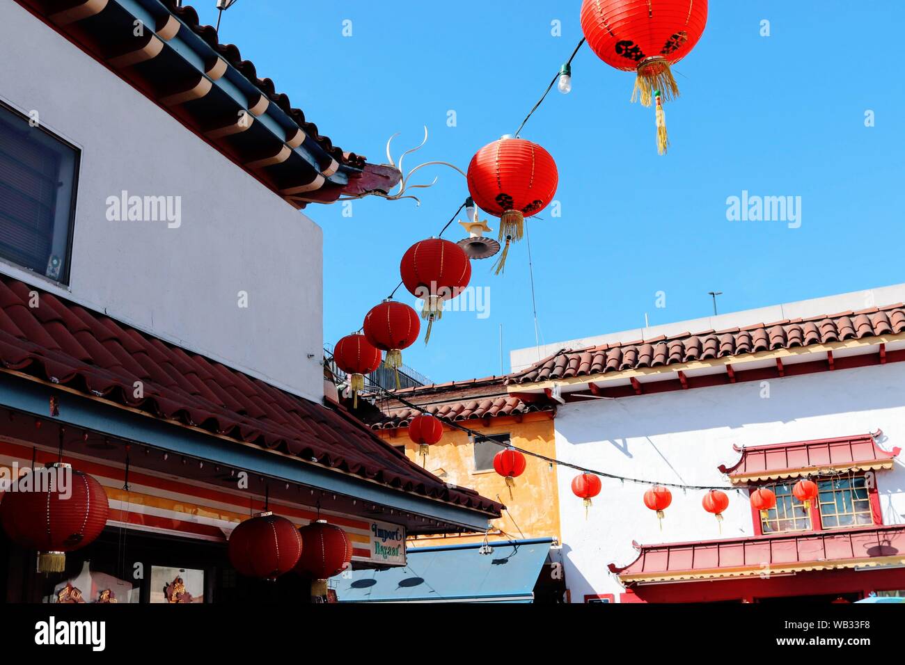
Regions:
<instances>
[{"instance_id":1,"label":"clear bright blue sky behind the lanterns","mask_svg":"<svg viewBox=\"0 0 905 665\"><path fill-rule=\"evenodd\" d=\"M214 0L192 4L215 23ZM344 149L382 162L387 138L402 132L397 156L427 125L430 139L408 166L438 159L464 169L518 128L572 52L580 5L239 0L221 40ZM769 37L760 36L765 19ZM633 74L583 47L571 94L553 90L522 132L559 168L561 217L545 211L529 223L541 343L639 328L645 312L651 325L707 316L710 290L724 292L728 312L905 281L903 24L905 4L893 0L711 2L700 43L675 67L681 98L666 107L665 157L653 110L629 103ZM338 204L308 208L324 229L326 342L359 328L395 287L409 245L437 233L468 194L451 169L421 173L439 181L421 190L420 207L373 198L356 202L351 218ZM743 190L800 196L800 227L728 221L727 197ZM443 237L463 235L454 225ZM534 345L525 242L504 276L491 263L472 265L472 285L490 287L490 316L447 313L427 347L405 350L407 365L436 382L499 374L500 323L504 371L510 348Z\"/></svg>"}]
</instances>

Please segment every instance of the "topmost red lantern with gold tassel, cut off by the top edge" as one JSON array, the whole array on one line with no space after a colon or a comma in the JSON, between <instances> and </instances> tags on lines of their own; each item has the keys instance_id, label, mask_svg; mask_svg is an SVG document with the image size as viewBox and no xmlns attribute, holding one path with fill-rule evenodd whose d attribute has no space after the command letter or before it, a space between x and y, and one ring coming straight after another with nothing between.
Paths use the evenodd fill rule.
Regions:
<instances>
[{"instance_id":1,"label":"topmost red lantern with gold tassel, cut off by the top edge","mask_svg":"<svg viewBox=\"0 0 905 665\"><path fill-rule=\"evenodd\" d=\"M691 52L707 24L707 0L585 0L581 29L608 65L635 71L632 101L656 101L657 148L666 152L662 100L679 96L671 66Z\"/></svg>"}]
</instances>

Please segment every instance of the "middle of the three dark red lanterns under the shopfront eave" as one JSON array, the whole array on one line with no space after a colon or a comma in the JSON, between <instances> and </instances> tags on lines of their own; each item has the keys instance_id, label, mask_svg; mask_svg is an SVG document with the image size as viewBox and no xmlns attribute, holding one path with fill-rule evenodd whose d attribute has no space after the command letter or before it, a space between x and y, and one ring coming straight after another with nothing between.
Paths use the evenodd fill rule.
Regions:
<instances>
[{"instance_id":1,"label":"middle of the three dark red lanterns under the shopfront eave","mask_svg":"<svg viewBox=\"0 0 905 665\"><path fill-rule=\"evenodd\" d=\"M262 512L233 529L227 553L241 575L275 580L299 563L301 536L288 519Z\"/></svg>"}]
</instances>

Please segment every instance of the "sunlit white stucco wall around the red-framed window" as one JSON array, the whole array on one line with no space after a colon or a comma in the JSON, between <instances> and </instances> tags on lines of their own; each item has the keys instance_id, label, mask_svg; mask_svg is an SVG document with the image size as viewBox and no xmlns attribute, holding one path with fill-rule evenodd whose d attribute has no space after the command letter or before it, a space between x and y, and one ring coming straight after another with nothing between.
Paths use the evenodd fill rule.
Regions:
<instances>
[{"instance_id":1,"label":"sunlit white stucco wall around the red-framed window","mask_svg":"<svg viewBox=\"0 0 905 665\"><path fill-rule=\"evenodd\" d=\"M732 444L752 446L882 430L881 448L905 448L905 363L759 382L594 400L560 406L557 458L641 479L729 485L717 467L738 461ZM905 453L903 453L905 456ZM558 474L563 556L573 602L624 591L606 568L626 565L642 544L754 534L748 497L729 492L722 536L701 508L702 491L672 490L663 530L643 505L647 487L604 480L589 518L572 494L574 473ZM884 524L905 523L905 465L877 472Z\"/></svg>"}]
</instances>

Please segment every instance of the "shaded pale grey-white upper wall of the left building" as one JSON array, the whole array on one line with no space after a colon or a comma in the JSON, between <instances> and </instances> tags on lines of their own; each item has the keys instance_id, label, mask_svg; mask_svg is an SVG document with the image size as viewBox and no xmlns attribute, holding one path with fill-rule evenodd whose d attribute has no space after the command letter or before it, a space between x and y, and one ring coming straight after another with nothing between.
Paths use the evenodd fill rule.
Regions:
<instances>
[{"instance_id":1,"label":"shaded pale grey-white upper wall of the left building","mask_svg":"<svg viewBox=\"0 0 905 665\"><path fill-rule=\"evenodd\" d=\"M0 271L322 395L320 228L20 5L0 2L0 100L81 148L71 285ZM109 222L108 196L181 196L179 228ZM241 309L239 291L248 294ZM312 357L308 357L308 355Z\"/></svg>"}]
</instances>

